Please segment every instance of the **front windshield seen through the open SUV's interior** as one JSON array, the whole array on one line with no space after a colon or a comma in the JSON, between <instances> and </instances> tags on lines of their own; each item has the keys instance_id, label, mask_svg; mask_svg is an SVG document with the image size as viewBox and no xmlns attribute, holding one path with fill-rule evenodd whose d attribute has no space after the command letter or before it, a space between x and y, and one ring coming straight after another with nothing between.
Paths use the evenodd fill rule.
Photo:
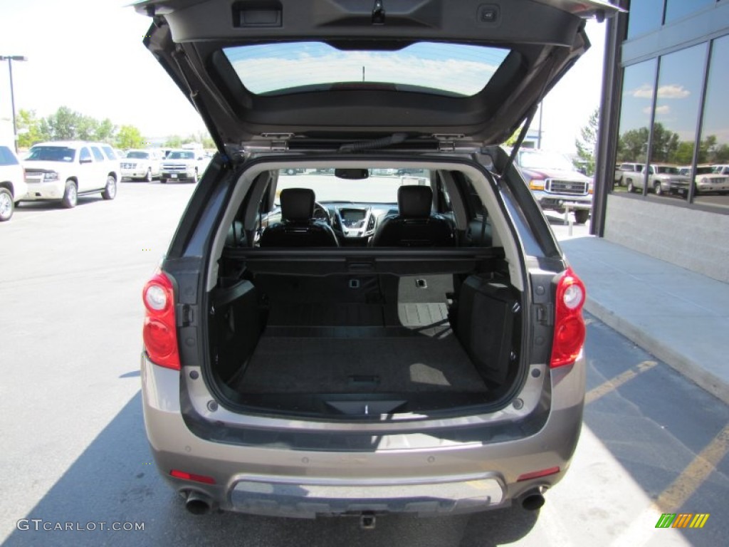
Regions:
<instances>
[{"instance_id":1,"label":"front windshield seen through the open SUV's interior","mask_svg":"<svg viewBox=\"0 0 729 547\"><path fill-rule=\"evenodd\" d=\"M397 204L397 189L404 185L426 185L430 172L418 169L409 174L397 169L370 169L367 179L340 179L334 169L301 169L300 173L288 175L282 170L276 185L276 206L278 195L285 188L310 188L316 201L343 203L392 203ZM297 170L298 171L298 170ZM415 171L415 170L412 170Z\"/></svg>"}]
</instances>

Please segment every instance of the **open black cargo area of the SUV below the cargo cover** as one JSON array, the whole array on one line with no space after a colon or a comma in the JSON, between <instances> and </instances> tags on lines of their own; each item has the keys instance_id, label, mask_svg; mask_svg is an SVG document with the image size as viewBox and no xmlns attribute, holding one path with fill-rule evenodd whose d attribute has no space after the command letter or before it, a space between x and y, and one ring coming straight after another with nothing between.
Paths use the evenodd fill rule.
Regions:
<instances>
[{"instance_id":1,"label":"open black cargo area of the SUV below the cargo cover","mask_svg":"<svg viewBox=\"0 0 729 547\"><path fill-rule=\"evenodd\" d=\"M494 272L247 276L211 295L213 377L232 403L421 413L494 402L518 376L518 292Z\"/></svg>"}]
</instances>

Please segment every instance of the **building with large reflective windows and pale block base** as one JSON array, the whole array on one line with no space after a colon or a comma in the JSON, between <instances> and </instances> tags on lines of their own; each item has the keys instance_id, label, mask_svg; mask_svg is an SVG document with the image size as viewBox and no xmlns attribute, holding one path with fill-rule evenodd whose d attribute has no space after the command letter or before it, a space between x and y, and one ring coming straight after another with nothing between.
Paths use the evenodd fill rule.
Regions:
<instances>
[{"instance_id":1,"label":"building with large reflective windows and pale block base","mask_svg":"<svg viewBox=\"0 0 729 547\"><path fill-rule=\"evenodd\" d=\"M729 0L614 3L591 230L729 282Z\"/></svg>"}]
</instances>

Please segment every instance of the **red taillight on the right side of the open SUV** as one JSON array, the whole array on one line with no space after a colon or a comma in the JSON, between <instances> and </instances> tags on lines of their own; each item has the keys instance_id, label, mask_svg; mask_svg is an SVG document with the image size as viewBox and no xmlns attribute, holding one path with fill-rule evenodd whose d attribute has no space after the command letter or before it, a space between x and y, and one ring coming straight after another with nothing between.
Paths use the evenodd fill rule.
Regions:
<instances>
[{"instance_id":1,"label":"red taillight on the right side of the open SUV","mask_svg":"<svg viewBox=\"0 0 729 547\"><path fill-rule=\"evenodd\" d=\"M572 268L567 268L557 284L550 367L571 365L580 355L585 344L584 304L585 285Z\"/></svg>"}]
</instances>

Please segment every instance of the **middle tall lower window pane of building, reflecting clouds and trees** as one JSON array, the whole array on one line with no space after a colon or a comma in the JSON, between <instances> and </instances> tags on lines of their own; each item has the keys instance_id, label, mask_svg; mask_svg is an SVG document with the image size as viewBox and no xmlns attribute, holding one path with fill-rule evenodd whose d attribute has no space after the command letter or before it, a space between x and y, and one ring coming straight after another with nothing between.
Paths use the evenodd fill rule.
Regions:
<instances>
[{"instance_id":1,"label":"middle tall lower window pane of building, reflecting clouds and trees","mask_svg":"<svg viewBox=\"0 0 729 547\"><path fill-rule=\"evenodd\" d=\"M708 44L698 44L660 58L658 92L651 140L648 193L688 197L689 169L701 104L701 82Z\"/></svg>"}]
</instances>

